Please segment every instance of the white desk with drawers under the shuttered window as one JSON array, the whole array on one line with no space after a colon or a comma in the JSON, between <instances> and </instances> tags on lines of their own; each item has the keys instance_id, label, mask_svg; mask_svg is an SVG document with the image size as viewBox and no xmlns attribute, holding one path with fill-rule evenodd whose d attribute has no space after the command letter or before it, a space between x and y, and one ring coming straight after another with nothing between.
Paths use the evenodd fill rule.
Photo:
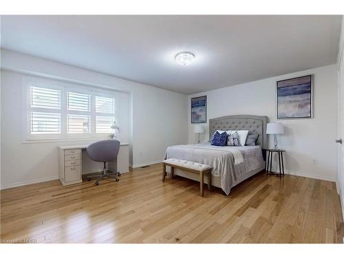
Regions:
<instances>
[{"instance_id":1,"label":"white desk with drawers under the shuttered window","mask_svg":"<svg viewBox=\"0 0 344 258\"><path fill-rule=\"evenodd\" d=\"M92 142L91 142L92 143ZM59 178L63 186L83 182L82 175L85 173L98 172L89 169L91 161L83 159L83 150L88 144L63 145L60 149ZM87 153L85 153L87 155ZM111 171L126 173L129 171L129 144L121 143L118 152L117 161L109 162Z\"/></svg>"}]
</instances>

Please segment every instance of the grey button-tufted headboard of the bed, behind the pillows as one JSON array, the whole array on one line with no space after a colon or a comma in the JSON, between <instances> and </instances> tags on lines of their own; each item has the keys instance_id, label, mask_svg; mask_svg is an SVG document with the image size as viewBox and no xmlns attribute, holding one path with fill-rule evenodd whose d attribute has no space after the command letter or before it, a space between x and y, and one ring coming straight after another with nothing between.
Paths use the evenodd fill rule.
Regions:
<instances>
[{"instance_id":1,"label":"grey button-tufted headboard of the bed, behind the pillows","mask_svg":"<svg viewBox=\"0 0 344 258\"><path fill-rule=\"evenodd\" d=\"M267 149L268 140L266 138L267 116L251 115L233 115L222 116L219 118L209 119L209 138L213 136L216 130L248 130L252 133L258 133L257 144L262 149Z\"/></svg>"}]
</instances>

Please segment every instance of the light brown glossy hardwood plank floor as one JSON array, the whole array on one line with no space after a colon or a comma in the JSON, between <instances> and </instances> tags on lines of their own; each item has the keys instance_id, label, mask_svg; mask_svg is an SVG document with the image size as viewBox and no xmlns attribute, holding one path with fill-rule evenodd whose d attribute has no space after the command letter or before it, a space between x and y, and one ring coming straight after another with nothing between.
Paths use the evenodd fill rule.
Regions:
<instances>
[{"instance_id":1,"label":"light brown glossy hardwood plank floor","mask_svg":"<svg viewBox=\"0 0 344 258\"><path fill-rule=\"evenodd\" d=\"M58 180L1 191L1 239L38 243L341 243L333 182L259 173L232 189L206 188L161 165L120 182Z\"/></svg>"}]
</instances>

